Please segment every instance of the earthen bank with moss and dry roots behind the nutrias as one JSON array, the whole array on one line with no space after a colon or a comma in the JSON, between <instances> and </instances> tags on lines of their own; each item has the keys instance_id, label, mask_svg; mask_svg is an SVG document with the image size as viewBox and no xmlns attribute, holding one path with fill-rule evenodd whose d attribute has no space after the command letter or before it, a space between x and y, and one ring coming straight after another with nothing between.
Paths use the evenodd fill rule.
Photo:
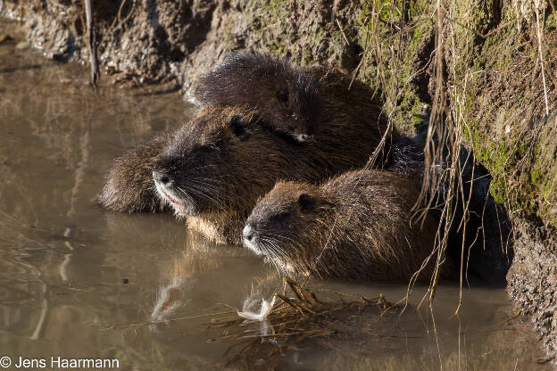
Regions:
<instances>
[{"instance_id":1,"label":"earthen bank with moss and dry roots behind the nutrias","mask_svg":"<svg viewBox=\"0 0 557 371\"><path fill-rule=\"evenodd\" d=\"M187 93L199 74L245 49L328 62L376 87L405 133L428 125L443 91L447 125L460 129L490 171L490 192L515 226L509 293L534 317L553 357L557 5L472 3L444 0L437 12L426 0L93 2L101 67L117 80L174 82ZM46 56L86 62L81 2L4 0L0 15L20 21Z\"/></svg>"}]
</instances>

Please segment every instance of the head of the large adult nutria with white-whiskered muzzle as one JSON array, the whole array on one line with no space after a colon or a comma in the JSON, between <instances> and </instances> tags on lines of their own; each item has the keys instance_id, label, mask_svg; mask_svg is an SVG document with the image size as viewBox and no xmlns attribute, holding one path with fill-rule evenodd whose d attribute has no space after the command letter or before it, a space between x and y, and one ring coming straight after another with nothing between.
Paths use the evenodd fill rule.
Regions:
<instances>
[{"instance_id":1,"label":"head of the large adult nutria with white-whiskered muzzle","mask_svg":"<svg viewBox=\"0 0 557 371\"><path fill-rule=\"evenodd\" d=\"M181 217L243 215L276 177L287 177L281 165L301 151L292 142L270 134L253 111L210 106L181 128L155 161L154 184ZM294 162L307 169L303 161Z\"/></svg>"}]
</instances>

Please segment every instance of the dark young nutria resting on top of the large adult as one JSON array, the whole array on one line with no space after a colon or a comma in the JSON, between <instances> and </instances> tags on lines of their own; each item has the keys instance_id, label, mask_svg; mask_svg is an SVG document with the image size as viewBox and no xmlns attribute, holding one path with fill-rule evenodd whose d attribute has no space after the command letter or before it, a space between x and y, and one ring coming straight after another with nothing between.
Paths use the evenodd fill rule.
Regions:
<instances>
[{"instance_id":1,"label":"dark young nutria resting on top of the large adult","mask_svg":"<svg viewBox=\"0 0 557 371\"><path fill-rule=\"evenodd\" d=\"M304 142L319 120L319 82L287 61L235 54L200 78L194 95L205 104L256 110L272 128Z\"/></svg>"}]
</instances>

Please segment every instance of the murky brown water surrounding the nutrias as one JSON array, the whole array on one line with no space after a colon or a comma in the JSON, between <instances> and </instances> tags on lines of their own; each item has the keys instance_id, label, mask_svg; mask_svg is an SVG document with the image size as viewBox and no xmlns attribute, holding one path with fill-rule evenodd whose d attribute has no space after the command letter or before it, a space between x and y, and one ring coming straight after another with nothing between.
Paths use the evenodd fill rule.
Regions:
<instances>
[{"instance_id":1,"label":"murky brown water surrounding the nutrias","mask_svg":"<svg viewBox=\"0 0 557 371\"><path fill-rule=\"evenodd\" d=\"M204 243L170 215L95 205L112 159L177 128L190 107L162 88L94 92L83 68L15 45L0 44L0 357L12 359L10 369L23 368L20 357L43 359L47 369L57 366L52 357L118 359L125 370L221 367L231 343L208 342L207 318L105 330L241 308L248 295L259 300L278 287L250 253ZM312 284L318 295L397 301L406 293L401 285ZM416 288L412 301L423 293ZM458 290L441 286L433 312L411 306L393 334L375 334L362 317L353 337L304 342L278 368L546 369L520 319L505 321L512 313L503 290L466 290L452 316L457 303ZM264 368L265 359L248 366Z\"/></svg>"}]
</instances>

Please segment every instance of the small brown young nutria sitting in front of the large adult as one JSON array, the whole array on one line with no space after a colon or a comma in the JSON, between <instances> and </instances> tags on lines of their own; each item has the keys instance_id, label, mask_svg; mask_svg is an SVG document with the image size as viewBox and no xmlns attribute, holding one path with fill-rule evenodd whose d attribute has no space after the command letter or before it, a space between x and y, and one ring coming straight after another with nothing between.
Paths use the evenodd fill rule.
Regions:
<instances>
[{"instance_id":1,"label":"small brown young nutria sitting in front of the large adult","mask_svg":"<svg viewBox=\"0 0 557 371\"><path fill-rule=\"evenodd\" d=\"M417 198L410 181L380 170L350 171L320 186L278 182L247 219L244 243L289 275L407 280L436 238L433 218L412 218Z\"/></svg>"}]
</instances>

